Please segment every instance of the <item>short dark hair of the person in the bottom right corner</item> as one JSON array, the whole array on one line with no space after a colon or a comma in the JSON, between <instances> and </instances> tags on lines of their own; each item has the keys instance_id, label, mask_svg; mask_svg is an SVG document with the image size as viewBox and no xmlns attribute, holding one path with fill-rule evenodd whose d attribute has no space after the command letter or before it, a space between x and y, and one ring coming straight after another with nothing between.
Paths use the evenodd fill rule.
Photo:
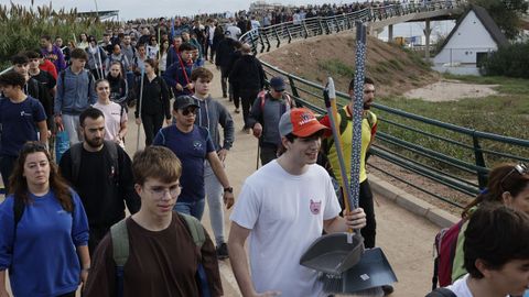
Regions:
<instances>
[{"instance_id":1,"label":"short dark hair of the person in the bottom right corner","mask_svg":"<svg viewBox=\"0 0 529 297\"><path fill-rule=\"evenodd\" d=\"M485 204L471 217L463 244L464 267L473 278L484 275L476 267L501 270L512 260L529 260L529 217L499 204Z\"/></svg>"}]
</instances>

